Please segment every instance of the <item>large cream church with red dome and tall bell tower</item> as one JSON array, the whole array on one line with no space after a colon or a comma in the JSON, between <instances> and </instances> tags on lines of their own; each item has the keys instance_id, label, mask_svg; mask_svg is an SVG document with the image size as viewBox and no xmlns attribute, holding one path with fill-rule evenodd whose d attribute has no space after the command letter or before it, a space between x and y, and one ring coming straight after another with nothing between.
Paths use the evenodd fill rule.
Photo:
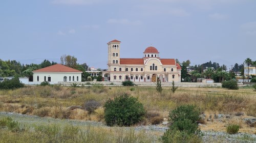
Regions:
<instances>
[{"instance_id":1,"label":"large cream church with red dome and tall bell tower","mask_svg":"<svg viewBox=\"0 0 256 143\"><path fill-rule=\"evenodd\" d=\"M175 59L161 59L155 47L147 47L143 58L120 58L120 41L108 43L108 71L102 72L107 81L180 82L181 67Z\"/></svg>"}]
</instances>

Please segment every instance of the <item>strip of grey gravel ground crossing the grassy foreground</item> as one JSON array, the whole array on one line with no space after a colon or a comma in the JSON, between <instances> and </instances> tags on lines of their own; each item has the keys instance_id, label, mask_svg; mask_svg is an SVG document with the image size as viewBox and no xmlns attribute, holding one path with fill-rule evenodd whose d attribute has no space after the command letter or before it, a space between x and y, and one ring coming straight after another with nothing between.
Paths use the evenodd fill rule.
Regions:
<instances>
[{"instance_id":1,"label":"strip of grey gravel ground crossing the grassy foreground","mask_svg":"<svg viewBox=\"0 0 256 143\"><path fill-rule=\"evenodd\" d=\"M20 115L18 113L12 112L0 112L0 117L11 117L16 121L19 121L20 123L28 125L42 123L63 123L78 126L90 125L111 128L105 126L102 122L41 118L37 116ZM129 127L126 128L129 129ZM134 128L136 131L145 130L146 132L156 132L156 134L158 135L163 134L165 130L168 129L166 125L136 126ZM230 135L225 132L202 131L202 138L203 142L256 142L256 135L247 133L237 133Z\"/></svg>"}]
</instances>

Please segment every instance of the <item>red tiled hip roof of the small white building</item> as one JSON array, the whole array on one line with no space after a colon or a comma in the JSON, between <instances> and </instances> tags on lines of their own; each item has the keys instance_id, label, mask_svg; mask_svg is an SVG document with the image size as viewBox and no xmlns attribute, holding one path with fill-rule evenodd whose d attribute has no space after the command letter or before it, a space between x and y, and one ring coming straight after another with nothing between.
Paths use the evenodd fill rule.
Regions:
<instances>
[{"instance_id":1,"label":"red tiled hip roof of the small white building","mask_svg":"<svg viewBox=\"0 0 256 143\"><path fill-rule=\"evenodd\" d=\"M67 67L67 66L63 66L60 64L56 64L56 65L45 67L39 70L34 70L33 72L81 72L81 71Z\"/></svg>"}]
</instances>

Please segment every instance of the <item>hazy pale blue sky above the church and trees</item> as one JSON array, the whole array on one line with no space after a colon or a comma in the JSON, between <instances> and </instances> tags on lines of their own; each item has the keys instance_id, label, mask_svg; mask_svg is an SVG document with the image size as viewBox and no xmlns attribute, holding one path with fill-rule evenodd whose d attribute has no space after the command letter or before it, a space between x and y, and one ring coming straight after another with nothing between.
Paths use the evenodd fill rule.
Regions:
<instances>
[{"instance_id":1,"label":"hazy pale blue sky above the church and trees","mask_svg":"<svg viewBox=\"0 0 256 143\"><path fill-rule=\"evenodd\" d=\"M24 64L63 54L106 68L108 46L121 41L121 58L218 62L256 60L254 0L24 0L0 2L0 59Z\"/></svg>"}]
</instances>

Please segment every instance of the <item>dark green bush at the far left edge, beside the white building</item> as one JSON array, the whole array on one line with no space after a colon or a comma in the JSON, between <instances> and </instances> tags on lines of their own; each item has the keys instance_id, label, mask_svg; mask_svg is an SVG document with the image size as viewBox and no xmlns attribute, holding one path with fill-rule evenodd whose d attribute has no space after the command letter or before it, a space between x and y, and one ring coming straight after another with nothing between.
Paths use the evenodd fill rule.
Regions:
<instances>
[{"instance_id":1,"label":"dark green bush at the far left edge, beside the white building","mask_svg":"<svg viewBox=\"0 0 256 143\"><path fill-rule=\"evenodd\" d=\"M18 88L23 88L25 85L19 81L18 78L5 79L0 82L0 90L13 90Z\"/></svg>"}]
</instances>

